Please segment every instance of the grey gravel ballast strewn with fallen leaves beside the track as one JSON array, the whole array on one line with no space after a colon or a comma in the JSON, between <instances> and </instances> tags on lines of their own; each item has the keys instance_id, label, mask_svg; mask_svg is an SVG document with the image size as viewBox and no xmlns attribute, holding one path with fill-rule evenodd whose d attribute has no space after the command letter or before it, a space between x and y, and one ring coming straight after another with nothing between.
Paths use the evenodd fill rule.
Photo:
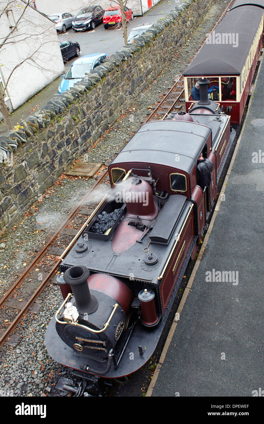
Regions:
<instances>
[{"instance_id":1,"label":"grey gravel ballast strewn with fallen leaves beside the track","mask_svg":"<svg viewBox=\"0 0 264 424\"><path fill-rule=\"evenodd\" d=\"M206 15L205 20L192 34L188 43L175 52L175 60L161 75L136 99L133 107L120 117L117 123L106 131L95 145L80 159L82 162L99 162L107 165L116 153L125 145L127 139L141 126L150 108L168 91L175 78L180 75L197 52L200 43L210 32L224 11L227 3L218 0ZM18 271L25 268L36 255L36 246L43 245L67 217L69 209L76 206L87 190L94 185L93 179L61 176L54 187L47 190L20 222L0 240L0 293L6 293L14 283ZM100 201L103 193L108 190L107 182L96 190L91 207ZM45 229L37 229L38 225L48 224ZM5 246L4 246L5 245ZM51 260L52 264L52 260ZM48 266L51 264L46 264ZM31 287L32 289L32 287ZM23 298L24 300L24 298ZM48 355L44 336L50 319L61 304L62 297L58 286L48 284L38 298L41 308L35 315L28 313L18 325L15 334L22 335L22 341L16 348L7 344L1 348L2 389L12 391L14 396L65 396L66 393L54 391L56 382L64 375L68 376L66 368L55 363ZM5 315L6 316L6 315ZM6 319L6 318L5 318ZM1 329L8 323L1 322ZM132 391L132 387L131 387ZM136 392L141 396L141 392Z\"/></svg>"}]
</instances>

